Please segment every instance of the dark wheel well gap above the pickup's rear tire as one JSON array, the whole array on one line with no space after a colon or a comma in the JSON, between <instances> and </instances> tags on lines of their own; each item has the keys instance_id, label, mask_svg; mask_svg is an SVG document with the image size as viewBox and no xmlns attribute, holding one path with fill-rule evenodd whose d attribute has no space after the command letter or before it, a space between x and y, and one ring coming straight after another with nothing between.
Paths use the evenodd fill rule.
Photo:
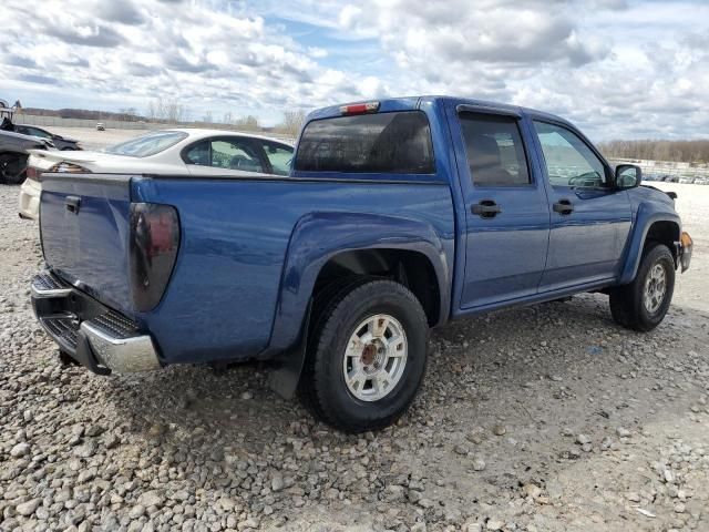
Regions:
<instances>
[{"instance_id":1,"label":"dark wheel well gap above the pickup's rear tire","mask_svg":"<svg viewBox=\"0 0 709 532\"><path fill-rule=\"evenodd\" d=\"M409 288L421 303L429 325L440 317L440 288L433 265L419 252L405 249L357 249L342 252L322 266L316 279L314 296L332 282L353 275L371 275L397 280Z\"/></svg>"}]
</instances>

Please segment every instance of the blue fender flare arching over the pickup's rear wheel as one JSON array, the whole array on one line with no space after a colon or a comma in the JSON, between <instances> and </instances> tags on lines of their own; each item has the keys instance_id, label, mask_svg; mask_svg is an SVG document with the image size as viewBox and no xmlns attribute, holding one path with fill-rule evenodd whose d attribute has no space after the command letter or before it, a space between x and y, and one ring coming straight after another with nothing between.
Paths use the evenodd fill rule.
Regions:
<instances>
[{"instance_id":1,"label":"blue fender flare arching over the pickup's rear wheel","mask_svg":"<svg viewBox=\"0 0 709 532\"><path fill-rule=\"evenodd\" d=\"M335 255L358 249L419 252L439 283L439 324L448 320L451 272L441 238L420 221L361 213L311 213L296 224L284 265L270 342L264 358L284 351L300 336L308 300L322 266Z\"/></svg>"}]
</instances>

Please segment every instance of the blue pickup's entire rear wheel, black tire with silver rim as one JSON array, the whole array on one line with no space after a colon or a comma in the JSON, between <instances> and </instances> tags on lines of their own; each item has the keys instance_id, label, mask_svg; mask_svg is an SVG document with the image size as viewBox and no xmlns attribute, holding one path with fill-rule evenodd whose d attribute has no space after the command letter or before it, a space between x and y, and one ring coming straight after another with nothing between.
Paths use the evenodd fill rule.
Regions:
<instances>
[{"instance_id":1,"label":"blue pickup's entire rear wheel, black tire with silver rim","mask_svg":"<svg viewBox=\"0 0 709 532\"><path fill-rule=\"evenodd\" d=\"M391 280L350 284L318 313L301 396L346 432L393 423L425 370L429 325L421 304Z\"/></svg>"}]
</instances>

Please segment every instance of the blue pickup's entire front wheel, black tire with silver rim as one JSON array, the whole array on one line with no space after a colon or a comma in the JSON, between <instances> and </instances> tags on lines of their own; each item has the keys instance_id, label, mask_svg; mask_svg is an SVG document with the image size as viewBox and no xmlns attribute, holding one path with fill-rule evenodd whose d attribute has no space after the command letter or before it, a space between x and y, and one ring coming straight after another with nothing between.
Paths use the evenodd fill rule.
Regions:
<instances>
[{"instance_id":1,"label":"blue pickup's entire front wheel, black tire with silver rim","mask_svg":"<svg viewBox=\"0 0 709 532\"><path fill-rule=\"evenodd\" d=\"M672 300L675 260L664 244L647 247L633 283L610 291L610 314L619 325L648 331L657 327Z\"/></svg>"}]
</instances>

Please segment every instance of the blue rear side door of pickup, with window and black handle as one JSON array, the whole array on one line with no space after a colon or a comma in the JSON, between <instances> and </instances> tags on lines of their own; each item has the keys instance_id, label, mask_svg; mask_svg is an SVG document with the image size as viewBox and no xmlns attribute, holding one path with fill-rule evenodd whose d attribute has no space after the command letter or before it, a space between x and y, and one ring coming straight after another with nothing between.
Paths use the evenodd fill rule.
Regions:
<instances>
[{"instance_id":1,"label":"blue rear side door of pickup, with window and black handle","mask_svg":"<svg viewBox=\"0 0 709 532\"><path fill-rule=\"evenodd\" d=\"M549 206L530 164L522 116L474 106L459 106L455 114L466 208L461 308L533 296L546 263Z\"/></svg>"}]
</instances>

